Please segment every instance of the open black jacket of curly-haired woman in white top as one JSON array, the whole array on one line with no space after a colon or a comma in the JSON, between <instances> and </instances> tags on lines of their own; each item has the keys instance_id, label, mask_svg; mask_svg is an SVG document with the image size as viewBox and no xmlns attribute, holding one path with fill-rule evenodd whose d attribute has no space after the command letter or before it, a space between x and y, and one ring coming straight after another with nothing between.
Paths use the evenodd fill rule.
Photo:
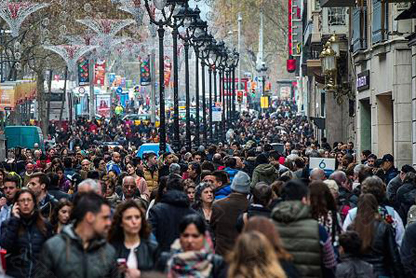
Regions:
<instances>
[{"instance_id":1,"label":"open black jacket of curly-haired woman in white top","mask_svg":"<svg viewBox=\"0 0 416 278\"><path fill-rule=\"evenodd\" d=\"M124 242L112 243L115 248L115 257L129 258L130 249L127 249ZM150 271L155 268L156 260L158 259L158 243L150 241L149 239L141 239L140 245L134 250L136 258L138 259L138 269L141 272Z\"/></svg>"}]
</instances>

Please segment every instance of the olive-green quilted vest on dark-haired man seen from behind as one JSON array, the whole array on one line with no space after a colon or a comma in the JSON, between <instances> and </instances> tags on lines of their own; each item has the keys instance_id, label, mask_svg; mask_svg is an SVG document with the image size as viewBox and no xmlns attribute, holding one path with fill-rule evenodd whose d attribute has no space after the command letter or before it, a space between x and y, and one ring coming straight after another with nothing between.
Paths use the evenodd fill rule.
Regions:
<instances>
[{"instance_id":1,"label":"olive-green quilted vest on dark-haired man seen from behind","mask_svg":"<svg viewBox=\"0 0 416 278\"><path fill-rule=\"evenodd\" d=\"M319 223L312 219L310 207L301 201L284 201L276 205L272 219L301 277L322 277Z\"/></svg>"}]
</instances>

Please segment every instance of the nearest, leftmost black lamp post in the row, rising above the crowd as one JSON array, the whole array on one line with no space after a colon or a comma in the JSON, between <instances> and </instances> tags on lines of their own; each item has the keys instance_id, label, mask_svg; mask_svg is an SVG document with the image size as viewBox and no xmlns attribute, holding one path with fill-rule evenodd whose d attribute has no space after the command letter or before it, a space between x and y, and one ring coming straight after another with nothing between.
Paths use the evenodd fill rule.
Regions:
<instances>
[{"instance_id":1,"label":"nearest, leftmost black lamp post in the row, rising above the crowd","mask_svg":"<svg viewBox=\"0 0 416 278\"><path fill-rule=\"evenodd\" d=\"M150 0L144 0L144 5L149 14L151 24L158 26L158 36L159 36L159 102L160 102L160 155L166 152L166 122L164 116L164 51L163 51L163 39L164 39L164 26L171 24L171 19L173 12L175 11L176 4L182 1L173 1L173 0L153 0L151 1L154 7L161 11L162 17L160 19L155 18L153 9L149 5ZM171 6L171 8L167 8Z\"/></svg>"}]
</instances>

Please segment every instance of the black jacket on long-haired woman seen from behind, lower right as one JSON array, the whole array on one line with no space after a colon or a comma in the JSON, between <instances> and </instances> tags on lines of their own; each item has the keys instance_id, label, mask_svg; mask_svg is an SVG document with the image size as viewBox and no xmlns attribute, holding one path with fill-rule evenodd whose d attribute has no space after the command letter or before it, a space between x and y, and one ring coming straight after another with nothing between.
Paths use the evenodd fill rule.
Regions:
<instances>
[{"instance_id":1,"label":"black jacket on long-haired woman seen from behind, lower right","mask_svg":"<svg viewBox=\"0 0 416 278\"><path fill-rule=\"evenodd\" d=\"M370 250L362 256L363 261L372 265L376 277L404 277L394 228L385 221L375 221L374 225L374 238Z\"/></svg>"}]
</instances>

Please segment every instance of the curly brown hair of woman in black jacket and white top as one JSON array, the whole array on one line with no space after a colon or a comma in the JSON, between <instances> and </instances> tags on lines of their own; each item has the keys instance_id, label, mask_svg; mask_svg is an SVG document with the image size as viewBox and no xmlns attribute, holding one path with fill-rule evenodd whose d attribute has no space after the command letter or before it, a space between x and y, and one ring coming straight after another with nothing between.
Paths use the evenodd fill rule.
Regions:
<instances>
[{"instance_id":1,"label":"curly brown hair of woman in black jacket and white top","mask_svg":"<svg viewBox=\"0 0 416 278\"><path fill-rule=\"evenodd\" d=\"M110 232L108 233L108 242L124 242L124 231L122 228L123 214L131 207L138 209L142 218L142 228L139 232L140 239L149 239L151 228L150 224L146 221L146 210L144 209L144 206L138 201L129 200L117 205L113 216L113 223L111 223Z\"/></svg>"}]
</instances>

